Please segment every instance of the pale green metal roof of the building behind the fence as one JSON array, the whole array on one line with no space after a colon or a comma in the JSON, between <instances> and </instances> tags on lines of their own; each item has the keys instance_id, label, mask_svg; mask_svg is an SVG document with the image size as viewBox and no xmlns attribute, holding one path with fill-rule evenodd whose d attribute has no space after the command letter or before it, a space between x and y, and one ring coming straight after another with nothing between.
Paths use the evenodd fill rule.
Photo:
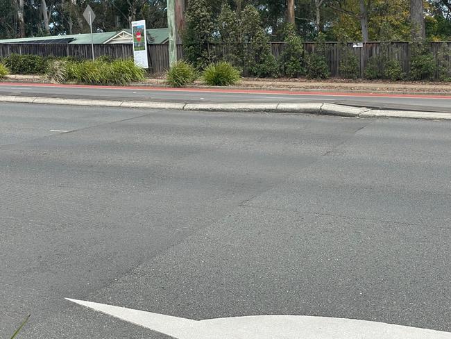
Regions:
<instances>
[{"instance_id":1,"label":"pale green metal roof of the building behind the fence","mask_svg":"<svg viewBox=\"0 0 451 339\"><path fill-rule=\"evenodd\" d=\"M105 33L93 33L92 38L94 40L94 44L104 44L106 41L113 38L115 35L118 35L122 31L126 31L128 33L131 33L130 29L124 29L118 32L105 32ZM149 42L153 44L164 44L167 42L169 38L169 31L168 28L155 28L155 29L148 29L146 30L147 34L150 35L153 38L153 41L149 40ZM40 40L49 40L51 43L51 40L58 40L61 38L69 39L72 38L71 42L69 44L90 44L91 43L91 34L71 34L71 35L54 35L54 36L45 36L45 37L34 37L34 38L19 38L19 39L6 39L6 40L0 40L0 44L6 44L6 43L33 43L33 42L39 42Z\"/></svg>"}]
</instances>

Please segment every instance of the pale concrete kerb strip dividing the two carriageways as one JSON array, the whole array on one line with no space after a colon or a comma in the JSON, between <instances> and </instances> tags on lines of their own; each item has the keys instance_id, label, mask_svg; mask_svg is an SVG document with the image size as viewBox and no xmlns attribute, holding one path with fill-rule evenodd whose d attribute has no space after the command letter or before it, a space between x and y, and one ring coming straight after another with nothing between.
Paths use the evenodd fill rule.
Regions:
<instances>
[{"instance_id":1,"label":"pale concrete kerb strip dividing the two carriageways","mask_svg":"<svg viewBox=\"0 0 451 339\"><path fill-rule=\"evenodd\" d=\"M152 101L114 101L87 99L59 99L45 97L0 96L0 102L23 104L52 104L72 106L100 106L124 108L151 108L171 110L197 110L204 112L269 112L291 114L337 115L339 117L397 117L409 119L451 120L451 113L418 112L411 110L379 110L365 107L328 103L278 104L184 104Z\"/></svg>"}]
</instances>

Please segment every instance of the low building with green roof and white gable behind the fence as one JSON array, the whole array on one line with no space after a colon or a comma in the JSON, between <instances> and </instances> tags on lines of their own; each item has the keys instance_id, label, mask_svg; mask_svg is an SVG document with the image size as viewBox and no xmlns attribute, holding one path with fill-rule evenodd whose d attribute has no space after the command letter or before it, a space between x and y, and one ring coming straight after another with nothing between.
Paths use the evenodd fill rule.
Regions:
<instances>
[{"instance_id":1,"label":"low building with green roof and white gable behind the fence","mask_svg":"<svg viewBox=\"0 0 451 339\"><path fill-rule=\"evenodd\" d=\"M149 44L167 44L168 28L153 28L146 30ZM93 33L94 44L131 44L133 35L130 29L118 32ZM0 44L90 44L91 34L54 35L46 37L18 38L0 40Z\"/></svg>"}]
</instances>

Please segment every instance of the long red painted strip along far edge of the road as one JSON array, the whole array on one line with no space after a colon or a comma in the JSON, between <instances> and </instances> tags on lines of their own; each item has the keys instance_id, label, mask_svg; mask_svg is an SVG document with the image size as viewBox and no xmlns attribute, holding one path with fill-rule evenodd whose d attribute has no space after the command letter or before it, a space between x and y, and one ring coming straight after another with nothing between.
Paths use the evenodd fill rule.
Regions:
<instances>
[{"instance_id":1,"label":"long red painted strip along far edge of the road","mask_svg":"<svg viewBox=\"0 0 451 339\"><path fill-rule=\"evenodd\" d=\"M2 86L40 87L40 88L92 88L97 90L148 90L160 92L206 92L206 93L236 93L236 94L289 94L312 95L328 97L380 97L380 98L412 98L412 99L451 99L451 95L438 94L389 94L389 93L353 93L327 91L291 91L291 90L240 90L233 88L166 88L152 86L105 86L105 85L66 85L53 83L0 83Z\"/></svg>"}]
</instances>

